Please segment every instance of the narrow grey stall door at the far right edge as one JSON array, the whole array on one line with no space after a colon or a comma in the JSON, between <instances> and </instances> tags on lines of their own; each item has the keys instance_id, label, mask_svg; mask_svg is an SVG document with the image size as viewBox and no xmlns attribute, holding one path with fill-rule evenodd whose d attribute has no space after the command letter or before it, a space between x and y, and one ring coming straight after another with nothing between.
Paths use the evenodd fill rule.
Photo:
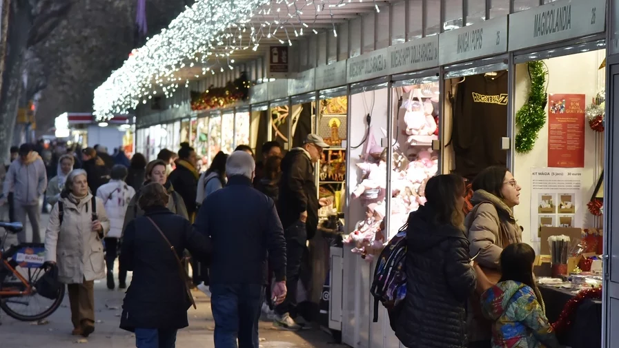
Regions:
<instances>
[{"instance_id":1,"label":"narrow grey stall door at the far right edge","mask_svg":"<svg viewBox=\"0 0 619 348\"><path fill-rule=\"evenodd\" d=\"M604 188L604 309L602 346L619 342L619 54L609 56ZM614 180L617 179L617 182Z\"/></svg>"}]
</instances>

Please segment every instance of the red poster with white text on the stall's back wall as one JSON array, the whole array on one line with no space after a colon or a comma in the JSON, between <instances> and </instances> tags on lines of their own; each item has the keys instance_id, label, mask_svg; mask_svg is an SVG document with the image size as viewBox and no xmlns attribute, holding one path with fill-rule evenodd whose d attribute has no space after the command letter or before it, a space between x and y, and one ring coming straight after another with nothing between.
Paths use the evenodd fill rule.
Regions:
<instances>
[{"instance_id":1,"label":"red poster with white text on the stall's back wall","mask_svg":"<svg viewBox=\"0 0 619 348\"><path fill-rule=\"evenodd\" d=\"M585 107L584 94L549 94L549 167L584 167Z\"/></svg>"}]
</instances>

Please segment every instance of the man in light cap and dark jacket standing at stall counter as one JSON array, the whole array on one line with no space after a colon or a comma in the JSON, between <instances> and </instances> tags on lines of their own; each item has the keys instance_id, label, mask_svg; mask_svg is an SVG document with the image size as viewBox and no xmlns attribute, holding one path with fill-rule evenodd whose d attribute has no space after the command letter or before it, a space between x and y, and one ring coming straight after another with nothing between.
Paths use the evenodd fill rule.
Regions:
<instances>
[{"instance_id":1,"label":"man in light cap and dark jacket standing at stall counter","mask_svg":"<svg viewBox=\"0 0 619 348\"><path fill-rule=\"evenodd\" d=\"M314 165L322 150L328 147L316 134L308 134L302 147L295 147L282 159L282 178L279 181L279 218L286 236L286 286L288 296L275 307L275 325L288 330L301 327L290 316L296 305L299 269L306 249L318 227L318 208L329 202L317 198Z\"/></svg>"}]
</instances>

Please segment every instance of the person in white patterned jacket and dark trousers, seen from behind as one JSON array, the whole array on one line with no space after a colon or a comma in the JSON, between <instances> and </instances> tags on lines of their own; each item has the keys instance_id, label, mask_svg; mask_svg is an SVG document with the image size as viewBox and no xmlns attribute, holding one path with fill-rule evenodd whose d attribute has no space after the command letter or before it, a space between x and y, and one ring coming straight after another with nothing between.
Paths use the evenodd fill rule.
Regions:
<instances>
[{"instance_id":1,"label":"person in white patterned jacket and dark trousers, seen from behind","mask_svg":"<svg viewBox=\"0 0 619 348\"><path fill-rule=\"evenodd\" d=\"M108 268L107 285L108 289L113 290L116 285L114 283L114 262L120 250L120 237L123 233L123 223L125 214L131 198L135 196L135 190L125 183L127 178L127 167L124 165L115 165L112 167L110 176L112 180L97 189L97 197L101 198L106 207L106 213L110 219L110 232L104 239L106 245L106 267ZM118 287L125 289L127 279L127 270L118 262Z\"/></svg>"}]
</instances>

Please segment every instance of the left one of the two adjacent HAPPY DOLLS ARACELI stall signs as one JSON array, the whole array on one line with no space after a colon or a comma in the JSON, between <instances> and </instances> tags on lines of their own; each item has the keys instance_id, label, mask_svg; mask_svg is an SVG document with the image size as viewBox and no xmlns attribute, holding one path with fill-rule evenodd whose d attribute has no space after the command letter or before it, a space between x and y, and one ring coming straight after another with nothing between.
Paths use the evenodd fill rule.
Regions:
<instances>
[{"instance_id":1,"label":"left one of the two adjacent HAPPY DOLLS ARACELI stall signs","mask_svg":"<svg viewBox=\"0 0 619 348\"><path fill-rule=\"evenodd\" d=\"M346 64L346 82L355 83L388 75L389 58L389 48L349 58Z\"/></svg>"}]
</instances>

